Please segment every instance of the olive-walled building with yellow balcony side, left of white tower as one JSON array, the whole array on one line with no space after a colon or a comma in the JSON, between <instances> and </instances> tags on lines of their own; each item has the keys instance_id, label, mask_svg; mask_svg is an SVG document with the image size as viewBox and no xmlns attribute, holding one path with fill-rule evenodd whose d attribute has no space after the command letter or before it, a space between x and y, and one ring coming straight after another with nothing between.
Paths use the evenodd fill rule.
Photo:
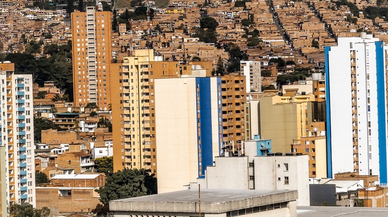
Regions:
<instances>
[{"instance_id":1,"label":"olive-walled building with yellow balcony side, left of white tower","mask_svg":"<svg viewBox=\"0 0 388 217\"><path fill-rule=\"evenodd\" d=\"M325 102L316 102L313 94L260 98L259 132L272 139L272 152L290 152L290 145L308 135L308 123L314 120L325 120Z\"/></svg>"}]
</instances>

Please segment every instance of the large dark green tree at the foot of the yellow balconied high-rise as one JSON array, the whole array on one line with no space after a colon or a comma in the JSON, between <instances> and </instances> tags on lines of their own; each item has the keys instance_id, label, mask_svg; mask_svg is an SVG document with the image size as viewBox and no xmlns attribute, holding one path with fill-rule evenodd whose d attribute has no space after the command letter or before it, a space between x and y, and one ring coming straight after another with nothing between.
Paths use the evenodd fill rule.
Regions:
<instances>
[{"instance_id":1,"label":"large dark green tree at the foot of the yellow balconied high-rise","mask_svg":"<svg viewBox=\"0 0 388 217\"><path fill-rule=\"evenodd\" d=\"M96 189L100 201L109 204L111 200L157 194L155 174L145 169L119 170L108 175L105 186Z\"/></svg>"}]
</instances>

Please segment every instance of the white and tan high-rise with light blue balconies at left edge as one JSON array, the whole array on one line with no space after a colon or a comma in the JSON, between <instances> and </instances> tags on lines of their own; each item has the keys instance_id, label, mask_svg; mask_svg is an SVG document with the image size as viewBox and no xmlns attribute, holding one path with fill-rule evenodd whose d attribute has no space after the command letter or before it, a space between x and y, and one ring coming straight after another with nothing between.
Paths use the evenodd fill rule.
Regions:
<instances>
[{"instance_id":1,"label":"white and tan high-rise with light blue balconies at left edge","mask_svg":"<svg viewBox=\"0 0 388 217\"><path fill-rule=\"evenodd\" d=\"M7 205L35 206L32 75L15 75L14 64L0 63L0 212Z\"/></svg>"}]
</instances>

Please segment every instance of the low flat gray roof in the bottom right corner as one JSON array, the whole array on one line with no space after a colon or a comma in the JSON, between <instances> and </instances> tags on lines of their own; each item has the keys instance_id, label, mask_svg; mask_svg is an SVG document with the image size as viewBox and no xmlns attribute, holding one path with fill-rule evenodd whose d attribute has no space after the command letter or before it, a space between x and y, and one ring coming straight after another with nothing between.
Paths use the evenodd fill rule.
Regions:
<instances>
[{"instance_id":1,"label":"low flat gray roof in the bottom right corner","mask_svg":"<svg viewBox=\"0 0 388 217\"><path fill-rule=\"evenodd\" d=\"M386 217L387 208L376 207L297 207L297 217Z\"/></svg>"}]
</instances>

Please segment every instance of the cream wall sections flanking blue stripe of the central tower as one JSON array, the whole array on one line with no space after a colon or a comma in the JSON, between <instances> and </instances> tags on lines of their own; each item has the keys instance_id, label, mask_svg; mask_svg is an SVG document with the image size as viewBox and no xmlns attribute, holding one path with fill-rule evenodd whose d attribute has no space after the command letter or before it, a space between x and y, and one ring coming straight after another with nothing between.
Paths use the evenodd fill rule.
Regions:
<instances>
[{"instance_id":1,"label":"cream wall sections flanking blue stripe of the central tower","mask_svg":"<svg viewBox=\"0 0 388 217\"><path fill-rule=\"evenodd\" d=\"M210 80L211 146L219 155L218 101L215 77ZM158 193L183 190L198 177L196 78L155 79ZM204 154L204 153L202 153ZM203 157L203 156L202 156ZM214 160L214 159L213 159Z\"/></svg>"}]
</instances>

